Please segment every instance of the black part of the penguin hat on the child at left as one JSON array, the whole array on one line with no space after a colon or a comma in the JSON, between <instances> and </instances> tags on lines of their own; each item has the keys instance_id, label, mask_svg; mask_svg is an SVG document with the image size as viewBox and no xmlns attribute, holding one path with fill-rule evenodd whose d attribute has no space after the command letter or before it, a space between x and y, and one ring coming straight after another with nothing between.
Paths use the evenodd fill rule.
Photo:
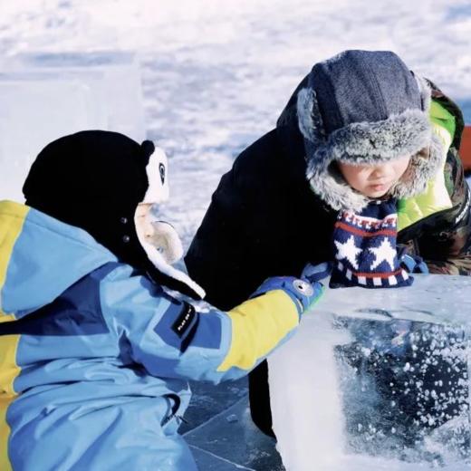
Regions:
<instances>
[{"instance_id":1,"label":"black part of the penguin hat on the child at left","mask_svg":"<svg viewBox=\"0 0 471 471\"><path fill-rule=\"evenodd\" d=\"M154 144L106 130L85 130L48 144L24 182L26 205L77 226L121 262L170 289L199 298L187 284L161 273L139 243L134 214L149 187Z\"/></svg>"}]
</instances>

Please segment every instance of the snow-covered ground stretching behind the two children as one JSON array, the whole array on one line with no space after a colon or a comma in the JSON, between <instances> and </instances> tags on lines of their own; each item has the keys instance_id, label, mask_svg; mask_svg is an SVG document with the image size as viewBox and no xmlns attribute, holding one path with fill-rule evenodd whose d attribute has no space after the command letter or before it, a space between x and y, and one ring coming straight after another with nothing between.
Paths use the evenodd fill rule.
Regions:
<instances>
[{"instance_id":1,"label":"snow-covered ground stretching behind the two children","mask_svg":"<svg viewBox=\"0 0 471 471\"><path fill-rule=\"evenodd\" d=\"M469 0L4 0L0 74L21 53L64 66L70 56L48 54L138 54L145 131L170 158L172 198L161 211L187 247L221 175L274 127L314 62L393 50L471 122L470 38Z\"/></svg>"}]
</instances>

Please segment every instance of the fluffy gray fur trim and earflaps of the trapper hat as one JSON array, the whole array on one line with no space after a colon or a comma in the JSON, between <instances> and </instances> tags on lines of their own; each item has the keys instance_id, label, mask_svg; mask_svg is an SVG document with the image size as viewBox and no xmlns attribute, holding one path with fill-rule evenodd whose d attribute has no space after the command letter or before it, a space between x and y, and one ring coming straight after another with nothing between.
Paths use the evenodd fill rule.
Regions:
<instances>
[{"instance_id":1,"label":"fluffy gray fur trim and earflaps of the trapper hat","mask_svg":"<svg viewBox=\"0 0 471 471\"><path fill-rule=\"evenodd\" d=\"M394 57L397 56L394 54ZM313 72L314 70L315 66ZM389 190L391 197L398 198L412 197L422 193L427 187L428 180L437 173L443 163L446 157L445 151L441 140L432 134L428 118L431 89L424 79L414 75L412 77L415 78L420 93L421 109L411 106L400 112L391 113L386 110L383 114L386 114L387 118L383 120L350 119L349 122L350 117L337 118L342 110L333 114L331 108L328 111L330 119L333 114L337 121L343 120L342 124L344 124L339 127L335 123L336 126L331 126L331 132L326 131L328 126L322 119L321 106L314 90L315 87L312 86L312 77L308 86L298 92L296 111L299 130L303 134L306 149L306 175L312 191L333 209L357 212L371 201L370 197L362 195L347 184L340 171L333 165L334 162L372 165L411 156L409 168L399 182ZM372 90L377 95L379 94L374 87ZM385 98L380 96L379 106L384 100ZM333 99L328 104L332 107L337 106L339 109L342 106L338 98L337 101ZM353 104L356 105L356 102L353 101ZM323 106L325 108L325 102ZM352 105L347 102L345 106L348 108ZM405 108L404 103L399 103L399 110L400 107ZM373 114L372 111L368 112Z\"/></svg>"}]
</instances>

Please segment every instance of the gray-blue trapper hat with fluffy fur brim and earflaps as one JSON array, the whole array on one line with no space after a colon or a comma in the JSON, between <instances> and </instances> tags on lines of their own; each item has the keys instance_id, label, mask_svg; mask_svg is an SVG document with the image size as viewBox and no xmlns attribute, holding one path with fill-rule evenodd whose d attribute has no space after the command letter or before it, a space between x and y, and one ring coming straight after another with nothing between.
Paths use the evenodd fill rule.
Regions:
<instances>
[{"instance_id":1,"label":"gray-blue trapper hat with fluffy fur brim and earflaps","mask_svg":"<svg viewBox=\"0 0 471 471\"><path fill-rule=\"evenodd\" d=\"M332 163L372 165L411 156L389 195L422 193L445 159L431 131L430 96L428 82L395 53L345 51L316 63L297 96L312 191L333 209L360 211L370 198L351 188Z\"/></svg>"}]
</instances>

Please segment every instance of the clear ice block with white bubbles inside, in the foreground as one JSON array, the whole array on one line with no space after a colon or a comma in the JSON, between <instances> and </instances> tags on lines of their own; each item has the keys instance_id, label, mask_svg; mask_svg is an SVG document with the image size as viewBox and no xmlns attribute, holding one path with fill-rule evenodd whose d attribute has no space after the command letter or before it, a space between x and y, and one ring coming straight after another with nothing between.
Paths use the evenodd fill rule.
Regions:
<instances>
[{"instance_id":1,"label":"clear ice block with white bubbles inside, in the foreground","mask_svg":"<svg viewBox=\"0 0 471 471\"><path fill-rule=\"evenodd\" d=\"M268 360L287 471L470 466L471 277L326 290Z\"/></svg>"}]
</instances>

